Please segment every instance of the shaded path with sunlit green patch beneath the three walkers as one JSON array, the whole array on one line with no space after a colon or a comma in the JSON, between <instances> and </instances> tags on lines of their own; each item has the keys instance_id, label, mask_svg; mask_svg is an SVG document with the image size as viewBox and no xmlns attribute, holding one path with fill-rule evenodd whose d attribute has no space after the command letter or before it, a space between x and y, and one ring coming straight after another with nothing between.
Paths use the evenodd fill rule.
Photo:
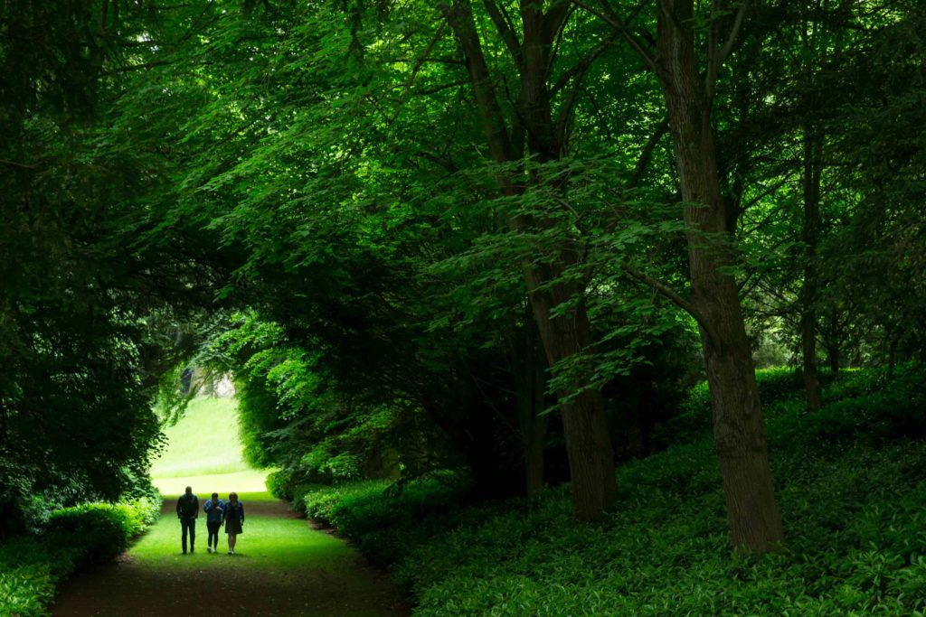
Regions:
<instances>
[{"instance_id":1,"label":"shaded path with sunlit green patch beneath the three walkers","mask_svg":"<svg viewBox=\"0 0 926 617\"><path fill-rule=\"evenodd\" d=\"M62 586L53 615L394 617L410 612L384 574L340 539L311 529L282 502L250 504L240 554L234 556L206 552L202 519L195 554L180 555L175 503L165 502L161 520L118 563ZM224 547L224 533L220 542Z\"/></svg>"}]
</instances>

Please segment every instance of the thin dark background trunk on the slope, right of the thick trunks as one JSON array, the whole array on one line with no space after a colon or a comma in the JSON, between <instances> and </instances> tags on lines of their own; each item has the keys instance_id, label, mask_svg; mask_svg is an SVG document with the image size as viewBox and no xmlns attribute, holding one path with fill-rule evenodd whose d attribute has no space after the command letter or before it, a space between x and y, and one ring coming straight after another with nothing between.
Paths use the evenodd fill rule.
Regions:
<instances>
[{"instance_id":1,"label":"thin dark background trunk on the slope, right of the thick trunks","mask_svg":"<svg viewBox=\"0 0 926 617\"><path fill-rule=\"evenodd\" d=\"M804 390L807 410L820 411L820 376L817 369L817 244L820 241L820 176L823 140L808 122L804 127L804 284L801 287L801 349L804 355Z\"/></svg>"}]
</instances>

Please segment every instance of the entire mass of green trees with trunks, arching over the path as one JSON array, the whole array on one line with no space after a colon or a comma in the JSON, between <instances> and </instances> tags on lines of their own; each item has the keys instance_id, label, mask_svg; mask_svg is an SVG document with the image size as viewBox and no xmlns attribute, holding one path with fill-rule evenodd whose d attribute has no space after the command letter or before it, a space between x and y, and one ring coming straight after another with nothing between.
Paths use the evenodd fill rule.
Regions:
<instances>
[{"instance_id":1,"label":"entire mass of green trees with trunks, arching over the path","mask_svg":"<svg viewBox=\"0 0 926 617\"><path fill-rule=\"evenodd\" d=\"M197 365L283 484L569 480L592 520L705 376L766 549L754 364L813 411L819 361L922 355L913 0L13 4L10 512L144 475Z\"/></svg>"}]
</instances>

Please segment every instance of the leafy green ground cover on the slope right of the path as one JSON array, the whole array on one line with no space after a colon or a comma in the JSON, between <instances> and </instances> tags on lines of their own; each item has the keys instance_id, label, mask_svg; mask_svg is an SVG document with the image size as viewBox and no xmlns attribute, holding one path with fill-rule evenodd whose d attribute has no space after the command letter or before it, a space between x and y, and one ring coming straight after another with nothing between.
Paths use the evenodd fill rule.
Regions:
<instances>
[{"instance_id":1,"label":"leafy green ground cover on the slope right of the path","mask_svg":"<svg viewBox=\"0 0 926 617\"><path fill-rule=\"evenodd\" d=\"M598 524L572 522L562 487L456 510L434 500L438 512L411 522L394 512L422 487L405 502L370 483L305 500L390 565L416 615L919 615L926 442L905 431L922 415L922 377L848 374L823 390L819 416L799 382L796 397L778 388L767 409L787 544L764 556L730 549L707 432L623 465Z\"/></svg>"}]
</instances>

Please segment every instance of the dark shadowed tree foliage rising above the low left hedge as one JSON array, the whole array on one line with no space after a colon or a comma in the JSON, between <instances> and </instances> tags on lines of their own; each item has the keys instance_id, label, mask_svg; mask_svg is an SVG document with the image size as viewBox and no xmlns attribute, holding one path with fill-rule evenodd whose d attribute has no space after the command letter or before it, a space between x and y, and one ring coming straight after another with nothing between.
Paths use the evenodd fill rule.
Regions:
<instances>
[{"instance_id":1,"label":"dark shadowed tree foliage rising above the low left hedge","mask_svg":"<svg viewBox=\"0 0 926 617\"><path fill-rule=\"evenodd\" d=\"M117 135L109 113L126 64L144 62L138 41L163 24L108 1L3 2L0 13L6 537L28 531L33 501L111 500L144 483L159 446L152 401L204 299L183 264L194 245L156 233L157 154Z\"/></svg>"}]
</instances>

